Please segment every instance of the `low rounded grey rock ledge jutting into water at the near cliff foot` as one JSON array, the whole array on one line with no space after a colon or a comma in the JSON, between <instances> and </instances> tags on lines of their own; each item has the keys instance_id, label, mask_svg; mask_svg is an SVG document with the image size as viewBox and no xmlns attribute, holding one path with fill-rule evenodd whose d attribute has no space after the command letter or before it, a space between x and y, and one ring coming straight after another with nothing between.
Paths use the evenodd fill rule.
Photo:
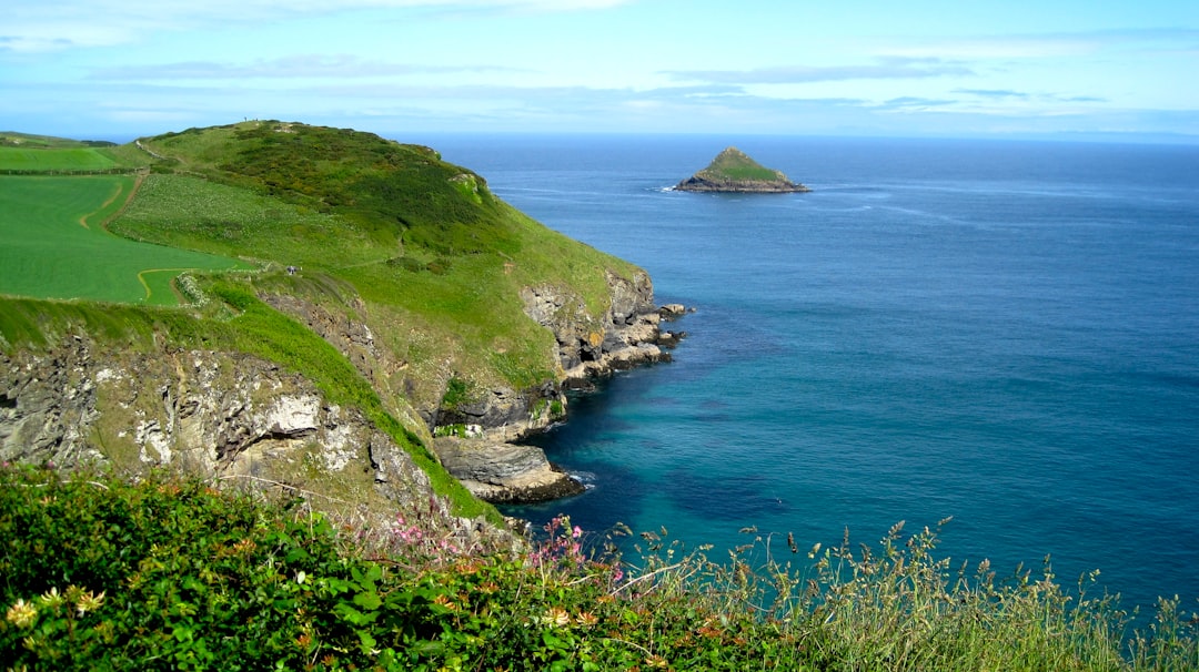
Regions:
<instances>
[{"instance_id":1,"label":"low rounded grey rock ledge jutting into water at the near cliff foot","mask_svg":"<svg viewBox=\"0 0 1199 672\"><path fill-rule=\"evenodd\" d=\"M434 447L446 471L488 502L543 502L583 492L583 485L550 465L536 446L440 437Z\"/></svg>"}]
</instances>

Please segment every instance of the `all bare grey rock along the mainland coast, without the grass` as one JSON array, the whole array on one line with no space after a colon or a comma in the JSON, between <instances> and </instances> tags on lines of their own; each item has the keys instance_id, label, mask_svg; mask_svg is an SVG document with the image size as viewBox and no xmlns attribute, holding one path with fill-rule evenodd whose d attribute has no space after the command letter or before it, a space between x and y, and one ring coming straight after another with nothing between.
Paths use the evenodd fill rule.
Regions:
<instances>
[{"instance_id":1,"label":"all bare grey rock along the mainland coast, without the grass","mask_svg":"<svg viewBox=\"0 0 1199 672\"><path fill-rule=\"evenodd\" d=\"M567 389L669 361L669 347L685 335L662 329L683 308L655 305L647 274L608 280L610 309L598 319L565 290L523 293L526 313L555 335L558 380L492 389L457 414L426 407L408 416L428 428L433 456L481 500L534 502L580 492L582 484L520 440L561 422ZM302 301L263 298L318 332L375 385L380 373L400 365L363 323ZM432 438L454 423L468 426L468 435ZM109 465L128 473L170 468L323 490L344 502L373 502L376 511L441 502L412 458L360 411L330 404L312 381L278 364L169 346L139 353L83 334L42 352L0 353L0 460ZM470 533L471 523L454 520L445 502L436 509L446 528Z\"/></svg>"}]
</instances>

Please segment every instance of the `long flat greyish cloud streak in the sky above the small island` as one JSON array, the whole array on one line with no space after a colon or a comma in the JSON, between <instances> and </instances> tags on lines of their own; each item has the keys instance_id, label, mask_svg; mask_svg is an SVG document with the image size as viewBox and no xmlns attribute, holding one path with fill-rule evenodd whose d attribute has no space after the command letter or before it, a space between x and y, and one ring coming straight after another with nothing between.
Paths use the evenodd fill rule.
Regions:
<instances>
[{"instance_id":1,"label":"long flat greyish cloud streak in the sky above the small island","mask_svg":"<svg viewBox=\"0 0 1199 672\"><path fill-rule=\"evenodd\" d=\"M663 74L682 81L724 84L811 84L854 79L922 79L969 75L972 71L959 62L932 57L881 57L872 65L783 66L741 71L695 69L669 71Z\"/></svg>"}]
</instances>

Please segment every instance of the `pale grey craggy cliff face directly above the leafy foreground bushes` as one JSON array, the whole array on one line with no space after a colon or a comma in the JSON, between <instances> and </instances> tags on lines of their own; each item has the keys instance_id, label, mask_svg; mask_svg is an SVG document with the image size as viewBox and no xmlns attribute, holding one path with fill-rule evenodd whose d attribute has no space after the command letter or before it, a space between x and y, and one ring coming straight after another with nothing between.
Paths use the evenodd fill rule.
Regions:
<instances>
[{"instance_id":1,"label":"pale grey craggy cliff face directly above the leafy foreground bushes","mask_svg":"<svg viewBox=\"0 0 1199 672\"><path fill-rule=\"evenodd\" d=\"M68 337L42 353L0 355L0 460L168 467L303 494L372 523L415 507L459 547L488 532L453 516L411 455L360 411L243 353L138 353Z\"/></svg>"}]
</instances>

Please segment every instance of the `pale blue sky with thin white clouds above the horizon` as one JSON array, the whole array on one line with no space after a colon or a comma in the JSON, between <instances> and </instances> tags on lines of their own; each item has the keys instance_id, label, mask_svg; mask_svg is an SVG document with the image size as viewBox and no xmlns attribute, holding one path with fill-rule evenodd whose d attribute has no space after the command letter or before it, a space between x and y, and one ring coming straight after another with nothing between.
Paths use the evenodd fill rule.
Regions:
<instances>
[{"instance_id":1,"label":"pale blue sky with thin white clouds above the horizon","mask_svg":"<svg viewBox=\"0 0 1199 672\"><path fill-rule=\"evenodd\" d=\"M0 131L1199 143L1195 0L23 0Z\"/></svg>"}]
</instances>

